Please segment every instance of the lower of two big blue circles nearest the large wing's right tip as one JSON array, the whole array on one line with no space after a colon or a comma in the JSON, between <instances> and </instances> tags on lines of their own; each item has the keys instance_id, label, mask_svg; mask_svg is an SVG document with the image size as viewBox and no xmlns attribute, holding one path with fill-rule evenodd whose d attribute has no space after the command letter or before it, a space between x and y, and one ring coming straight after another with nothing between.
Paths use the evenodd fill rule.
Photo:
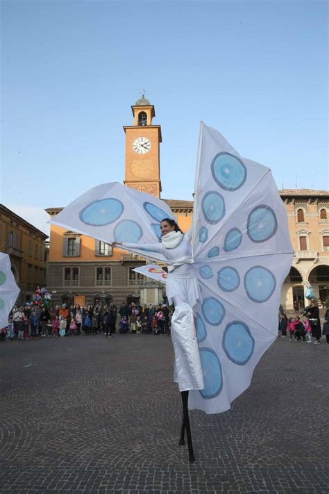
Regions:
<instances>
[{"instance_id":1,"label":"lower of two big blue circles nearest the large wing's right tip","mask_svg":"<svg viewBox=\"0 0 329 494\"><path fill-rule=\"evenodd\" d=\"M253 302L266 302L276 289L276 278L267 267L251 267L244 275L244 288Z\"/></svg>"}]
</instances>

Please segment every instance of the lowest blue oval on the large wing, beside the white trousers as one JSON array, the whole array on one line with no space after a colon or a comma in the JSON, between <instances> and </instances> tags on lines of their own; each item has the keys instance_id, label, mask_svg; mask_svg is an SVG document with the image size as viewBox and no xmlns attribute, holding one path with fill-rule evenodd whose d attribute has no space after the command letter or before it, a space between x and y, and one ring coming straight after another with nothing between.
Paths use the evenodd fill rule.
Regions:
<instances>
[{"instance_id":1,"label":"lowest blue oval on the large wing, beside the white trousers","mask_svg":"<svg viewBox=\"0 0 329 494\"><path fill-rule=\"evenodd\" d=\"M217 355L210 348L200 348L201 368L205 387L200 390L205 400L210 400L221 393L223 388L223 377L221 363Z\"/></svg>"}]
</instances>

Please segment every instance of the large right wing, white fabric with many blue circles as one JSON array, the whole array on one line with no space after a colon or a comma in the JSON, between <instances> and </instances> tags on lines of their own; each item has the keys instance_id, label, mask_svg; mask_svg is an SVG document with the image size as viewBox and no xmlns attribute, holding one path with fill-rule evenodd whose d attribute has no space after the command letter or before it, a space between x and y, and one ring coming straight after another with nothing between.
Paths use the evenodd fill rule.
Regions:
<instances>
[{"instance_id":1,"label":"large right wing, white fabric with many blue circles","mask_svg":"<svg viewBox=\"0 0 329 494\"><path fill-rule=\"evenodd\" d=\"M205 389L189 408L218 413L248 388L278 335L280 290L292 265L287 215L268 168L242 159L201 124L194 197L196 310Z\"/></svg>"}]
</instances>

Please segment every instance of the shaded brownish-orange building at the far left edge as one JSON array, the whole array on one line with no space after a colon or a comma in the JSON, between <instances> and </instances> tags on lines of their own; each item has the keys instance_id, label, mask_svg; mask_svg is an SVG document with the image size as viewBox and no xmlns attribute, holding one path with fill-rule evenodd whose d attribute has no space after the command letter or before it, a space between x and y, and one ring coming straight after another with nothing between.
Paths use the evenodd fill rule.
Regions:
<instances>
[{"instance_id":1,"label":"shaded brownish-orange building at the far left edge","mask_svg":"<svg viewBox=\"0 0 329 494\"><path fill-rule=\"evenodd\" d=\"M30 302L38 286L44 286L44 252L48 236L0 204L0 251L9 254L12 272L20 288L19 304Z\"/></svg>"}]
</instances>

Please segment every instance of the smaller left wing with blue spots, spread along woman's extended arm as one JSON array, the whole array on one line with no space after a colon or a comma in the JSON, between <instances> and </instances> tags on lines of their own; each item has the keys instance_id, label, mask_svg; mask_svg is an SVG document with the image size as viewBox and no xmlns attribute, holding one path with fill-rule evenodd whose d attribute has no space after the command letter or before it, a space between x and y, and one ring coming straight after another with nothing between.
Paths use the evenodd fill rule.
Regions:
<instances>
[{"instance_id":1,"label":"smaller left wing with blue spots, spread along woman's extended arm","mask_svg":"<svg viewBox=\"0 0 329 494\"><path fill-rule=\"evenodd\" d=\"M108 244L154 244L160 242L160 222L165 217L174 219L169 206L158 197L112 182L85 192L58 213L52 223ZM158 252L124 249L165 261Z\"/></svg>"}]
</instances>

